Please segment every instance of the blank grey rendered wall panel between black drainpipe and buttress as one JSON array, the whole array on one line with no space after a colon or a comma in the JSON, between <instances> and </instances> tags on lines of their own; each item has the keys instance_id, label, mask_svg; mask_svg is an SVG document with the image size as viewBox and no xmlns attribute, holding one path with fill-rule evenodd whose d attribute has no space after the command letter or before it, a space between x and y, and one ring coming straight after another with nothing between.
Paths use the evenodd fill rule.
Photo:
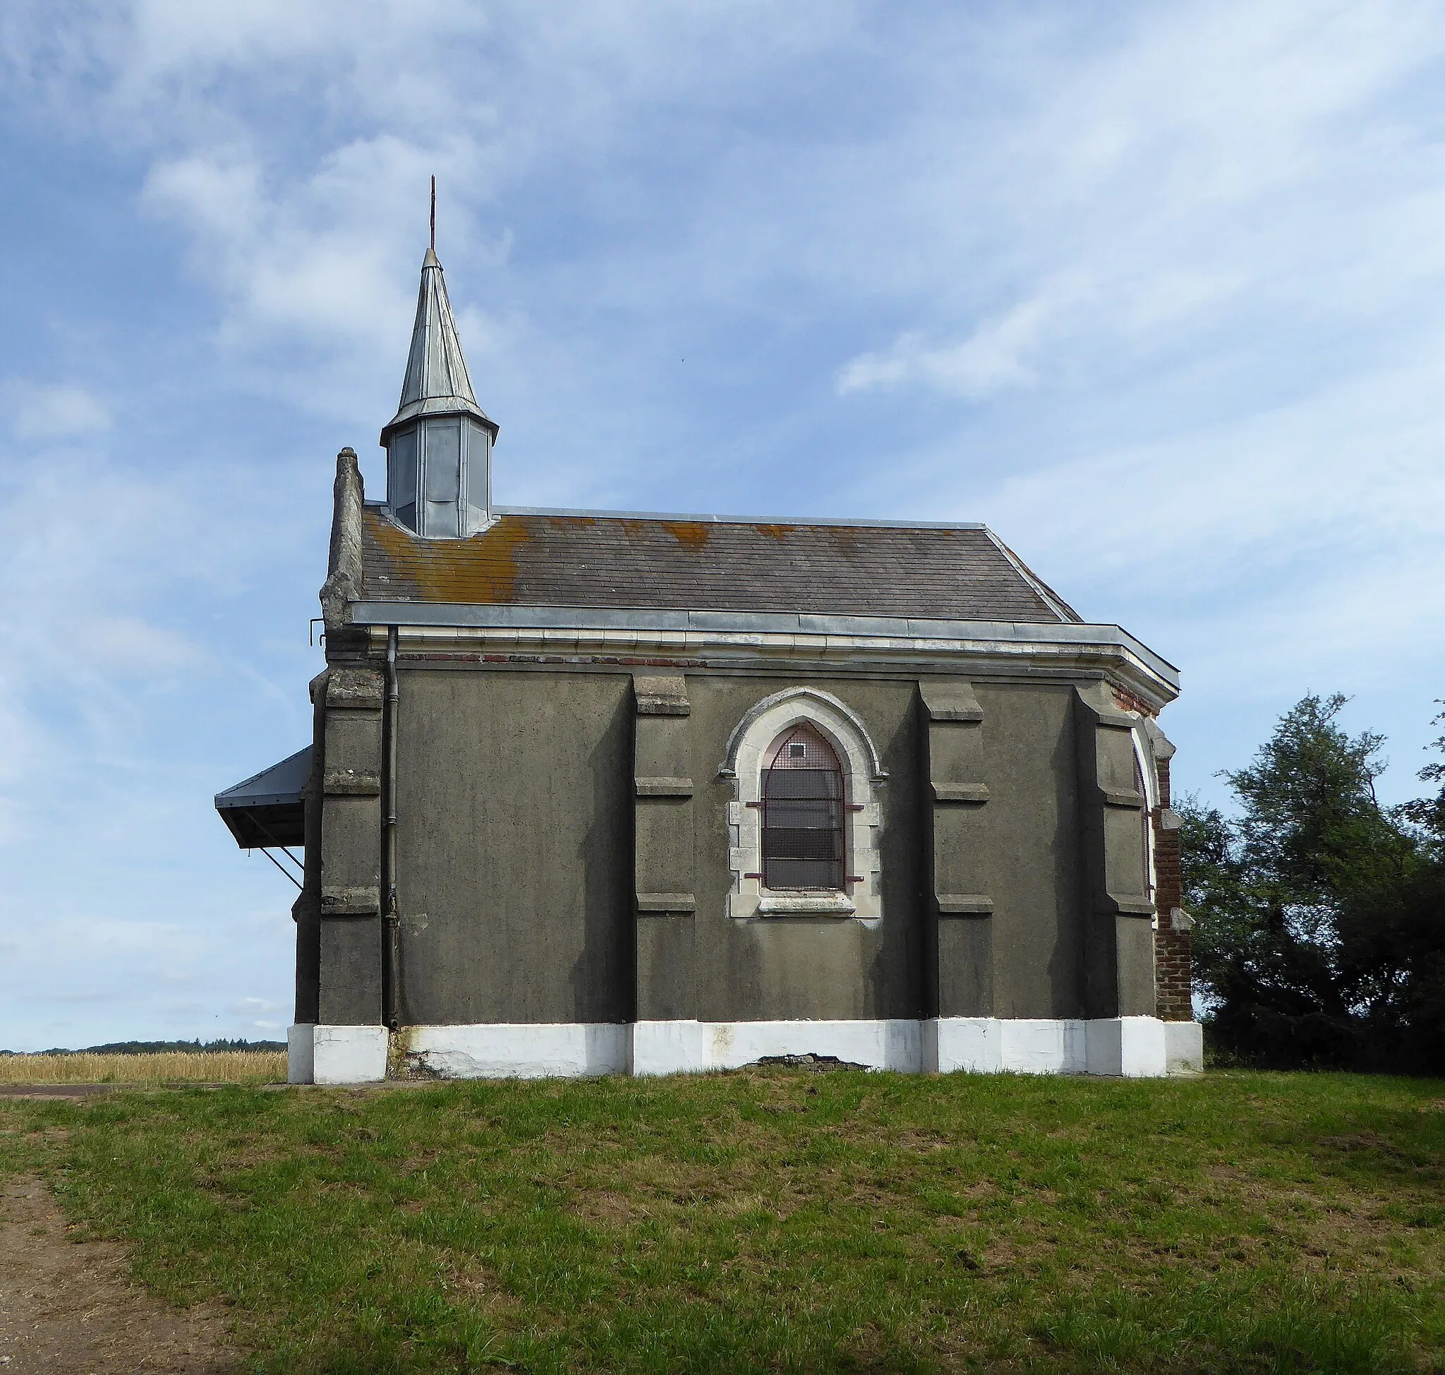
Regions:
<instances>
[{"instance_id":1,"label":"blank grey rendered wall panel between black drainpipe and buttress","mask_svg":"<svg viewBox=\"0 0 1445 1375\"><path fill-rule=\"evenodd\" d=\"M631 678L400 674L402 1021L623 1022Z\"/></svg>"}]
</instances>

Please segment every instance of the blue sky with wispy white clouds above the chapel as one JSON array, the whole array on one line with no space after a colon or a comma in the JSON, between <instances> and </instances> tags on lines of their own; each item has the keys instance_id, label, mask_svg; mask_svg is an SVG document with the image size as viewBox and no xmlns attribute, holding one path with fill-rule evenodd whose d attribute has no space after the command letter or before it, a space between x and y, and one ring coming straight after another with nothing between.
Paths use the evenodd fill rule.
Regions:
<instances>
[{"instance_id":1,"label":"blue sky with wispy white clouds above the chapel","mask_svg":"<svg viewBox=\"0 0 1445 1375\"><path fill-rule=\"evenodd\" d=\"M426 178L507 505L987 521L1183 789L1445 697L1445 10L12 0L0 1045L277 1035L211 795L306 742Z\"/></svg>"}]
</instances>

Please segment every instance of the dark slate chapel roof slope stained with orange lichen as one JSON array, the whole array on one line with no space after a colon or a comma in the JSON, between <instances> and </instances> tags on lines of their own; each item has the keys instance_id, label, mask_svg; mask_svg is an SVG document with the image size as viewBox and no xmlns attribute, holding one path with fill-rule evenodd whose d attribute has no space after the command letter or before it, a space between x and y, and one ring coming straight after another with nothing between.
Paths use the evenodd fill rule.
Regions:
<instances>
[{"instance_id":1,"label":"dark slate chapel roof slope stained with orange lichen","mask_svg":"<svg viewBox=\"0 0 1445 1375\"><path fill-rule=\"evenodd\" d=\"M984 526L499 512L422 539L363 509L367 601L1078 622Z\"/></svg>"}]
</instances>

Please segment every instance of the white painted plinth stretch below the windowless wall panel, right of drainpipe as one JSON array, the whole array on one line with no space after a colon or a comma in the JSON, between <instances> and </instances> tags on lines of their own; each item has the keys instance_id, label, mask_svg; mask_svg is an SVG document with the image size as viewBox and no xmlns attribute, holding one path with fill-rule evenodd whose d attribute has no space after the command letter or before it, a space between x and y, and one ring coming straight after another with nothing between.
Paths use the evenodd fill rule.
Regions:
<instances>
[{"instance_id":1,"label":"white painted plinth stretch below the windowless wall panel, right of drainpipe","mask_svg":"<svg viewBox=\"0 0 1445 1375\"><path fill-rule=\"evenodd\" d=\"M581 1079L626 1074L631 1027L614 1022L497 1022L412 1027L409 1067L439 1079Z\"/></svg>"}]
</instances>

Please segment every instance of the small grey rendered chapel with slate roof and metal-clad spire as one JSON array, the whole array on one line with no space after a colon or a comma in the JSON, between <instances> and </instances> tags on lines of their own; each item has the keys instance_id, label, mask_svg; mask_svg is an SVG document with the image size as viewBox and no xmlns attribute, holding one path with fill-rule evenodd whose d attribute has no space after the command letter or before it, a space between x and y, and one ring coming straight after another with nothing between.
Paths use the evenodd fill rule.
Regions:
<instances>
[{"instance_id":1,"label":"small grey rendered chapel with slate roof and metal-clad spire","mask_svg":"<svg viewBox=\"0 0 1445 1375\"><path fill-rule=\"evenodd\" d=\"M493 502L429 250L386 493L337 457L292 1081L1188 1073L1176 669L990 529Z\"/></svg>"}]
</instances>

